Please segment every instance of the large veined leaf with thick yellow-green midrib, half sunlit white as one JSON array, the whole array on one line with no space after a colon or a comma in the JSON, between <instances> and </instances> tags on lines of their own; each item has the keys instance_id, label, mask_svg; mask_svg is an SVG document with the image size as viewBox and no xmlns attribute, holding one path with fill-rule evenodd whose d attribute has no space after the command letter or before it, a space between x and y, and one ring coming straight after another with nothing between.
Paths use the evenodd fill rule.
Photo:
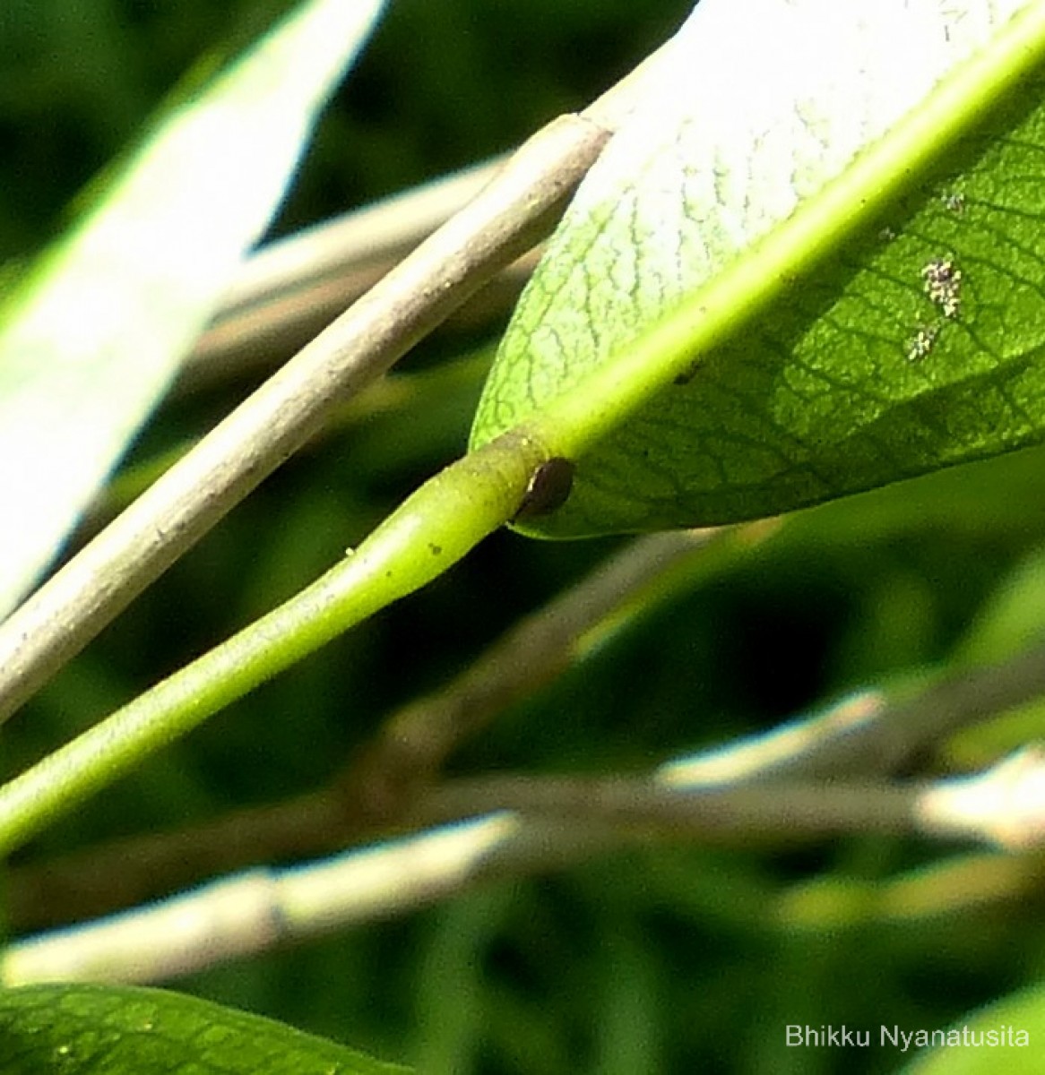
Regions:
<instances>
[{"instance_id":1,"label":"large veined leaf with thick yellow-green midrib, half sunlit white","mask_svg":"<svg viewBox=\"0 0 1045 1075\"><path fill-rule=\"evenodd\" d=\"M1043 22L703 0L481 401L473 444L525 422L576 465L525 529L755 518L1041 441L1045 109L1036 75L999 87Z\"/></svg>"}]
</instances>

